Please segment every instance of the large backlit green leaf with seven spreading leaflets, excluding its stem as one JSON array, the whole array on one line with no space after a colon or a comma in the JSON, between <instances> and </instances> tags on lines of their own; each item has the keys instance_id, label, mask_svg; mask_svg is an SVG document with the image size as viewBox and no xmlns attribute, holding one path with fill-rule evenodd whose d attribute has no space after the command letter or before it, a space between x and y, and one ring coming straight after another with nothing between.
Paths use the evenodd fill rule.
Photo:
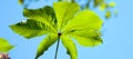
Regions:
<instances>
[{"instance_id":1,"label":"large backlit green leaf with seven spreading leaflets, excluding its stem","mask_svg":"<svg viewBox=\"0 0 133 59\"><path fill-rule=\"evenodd\" d=\"M103 0L95 1L99 6ZM53 8L47 6L39 9L24 9L23 16L28 19L10 27L25 38L48 35L39 45L35 59L42 56L59 36L71 59L78 59L75 45L70 37L84 47L102 43L100 33L102 20L94 11L79 10L80 6L74 2L54 2Z\"/></svg>"}]
</instances>

